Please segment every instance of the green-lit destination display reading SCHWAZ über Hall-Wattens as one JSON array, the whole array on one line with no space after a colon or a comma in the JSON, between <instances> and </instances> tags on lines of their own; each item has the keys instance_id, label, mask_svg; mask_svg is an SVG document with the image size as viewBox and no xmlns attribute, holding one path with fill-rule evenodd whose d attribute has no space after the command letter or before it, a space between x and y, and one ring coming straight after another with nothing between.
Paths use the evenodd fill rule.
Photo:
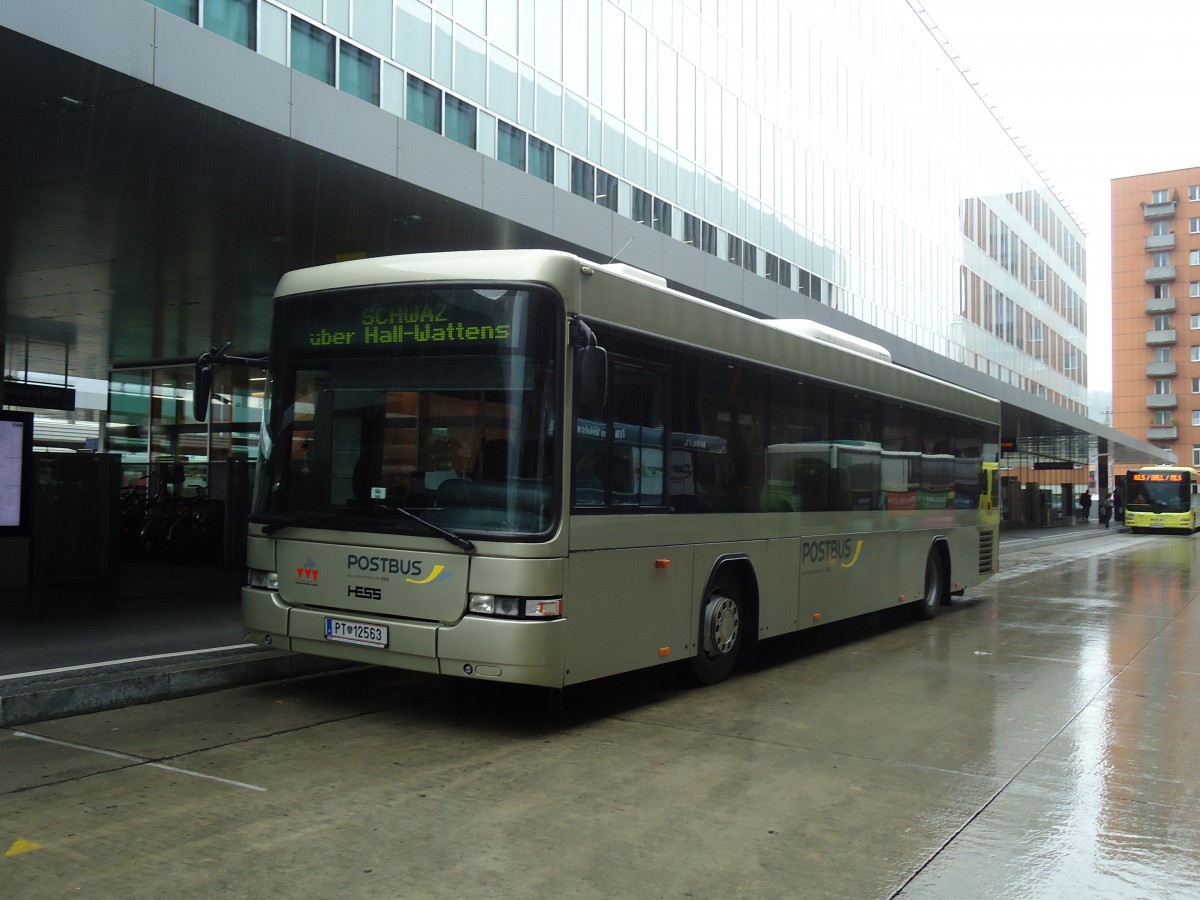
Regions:
<instances>
[{"instance_id":1,"label":"green-lit destination display reading SCHWAZ \u00fcber Hall-Wattens","mask_svg":"<svg viewBox=\"0 0 1200 900\"><path fill-rule=\"evenodd\" d=\"M292 346L322 349L510 347L518 292L355 292L287 301Z\"/></svg>"}]
</instances>

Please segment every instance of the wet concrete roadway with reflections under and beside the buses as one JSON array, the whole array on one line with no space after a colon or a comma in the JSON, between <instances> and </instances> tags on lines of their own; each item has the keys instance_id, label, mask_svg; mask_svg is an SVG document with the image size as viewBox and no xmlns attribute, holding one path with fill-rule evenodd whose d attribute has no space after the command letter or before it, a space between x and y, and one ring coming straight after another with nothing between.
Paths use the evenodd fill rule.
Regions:
<instances>
[{"instance_id":1,"label":"wet concrete roadway with reflections under and beside the buses","mask_svg":"<svg viewBox=\"0 0 1200 900\"><path fill-rule=\"evenodd\" d=\"M1200 539L558 698L360 668L0 731L5 896L1200 895Z\"/></svg>"}]
</instances>

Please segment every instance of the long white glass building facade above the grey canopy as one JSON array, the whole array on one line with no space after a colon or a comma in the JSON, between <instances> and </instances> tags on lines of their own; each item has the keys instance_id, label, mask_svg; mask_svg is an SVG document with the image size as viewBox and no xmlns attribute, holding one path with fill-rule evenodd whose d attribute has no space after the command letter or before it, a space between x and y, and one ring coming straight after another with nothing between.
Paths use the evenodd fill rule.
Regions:
<instances>
[{"instance_id":1,"label":"long white glass building facade above the grey canopy","mask_svg":"<svg viewBox=\"0 0 1200 900\"><path fill-rule=\"evenodd\" d=\"M155 5L1086 413L1082 230L904 0Z\"/></svg>"}]
</instances>

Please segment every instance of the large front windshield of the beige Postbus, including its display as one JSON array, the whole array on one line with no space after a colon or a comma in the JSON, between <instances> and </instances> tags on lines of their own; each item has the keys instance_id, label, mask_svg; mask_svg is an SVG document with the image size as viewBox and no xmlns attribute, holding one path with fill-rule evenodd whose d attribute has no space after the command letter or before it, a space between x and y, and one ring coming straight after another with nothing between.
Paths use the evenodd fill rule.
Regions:
<instances>
[{"instance_id":1,"label":"large front windshield of the beige Postbus, including its display","mask_svg":"<svg viewBox=\"0 0 1200 900\"><path fill-rule=\"evenodd\" d=\"M278 304L251 520L270 528L546 534L560 301L412 287Z\"/></svg>"}]
</instances>

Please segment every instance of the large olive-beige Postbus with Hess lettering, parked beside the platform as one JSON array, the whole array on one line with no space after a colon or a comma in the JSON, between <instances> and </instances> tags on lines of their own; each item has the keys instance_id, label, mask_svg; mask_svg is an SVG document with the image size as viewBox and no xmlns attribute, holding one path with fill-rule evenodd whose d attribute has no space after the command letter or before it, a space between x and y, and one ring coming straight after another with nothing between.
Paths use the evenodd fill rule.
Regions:
<instances>
[{"instance_id":1,"label":"large olive-beige Postbus with Hess lettering, parked beside the platform","mask_svg":"<svg viewBox=\"0 0 1200 900\"><path fill-rule=\"evenodd\" d=\"M715 683L760 641L929 618L996 570L998 404L850 335L551 251L318 266L274 304L252 642L552 688L673 661ZM930 467L912 490L935 497L889 504L884 454Z\"/></svg>"}]
</instances>

